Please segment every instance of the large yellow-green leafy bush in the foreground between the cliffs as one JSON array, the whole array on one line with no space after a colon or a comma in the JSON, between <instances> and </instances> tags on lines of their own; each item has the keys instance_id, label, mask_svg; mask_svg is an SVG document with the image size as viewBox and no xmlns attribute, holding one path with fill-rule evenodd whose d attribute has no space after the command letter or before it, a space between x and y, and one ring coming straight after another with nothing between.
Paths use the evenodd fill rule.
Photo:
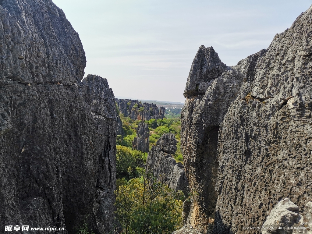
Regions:
<instances>
[{"instance_id":1,"label":"large yellow-green leafy bush in the foreground between the cliffs","mask_svg":"<svg viewBox=\"0 0 312 234\"><path fill-rule=\"evenodd\" d=\"M167 234L182 226L183 193L151 175L131 179L115 194L116 218L125 234Z\"/></svg>"}]
</instances>

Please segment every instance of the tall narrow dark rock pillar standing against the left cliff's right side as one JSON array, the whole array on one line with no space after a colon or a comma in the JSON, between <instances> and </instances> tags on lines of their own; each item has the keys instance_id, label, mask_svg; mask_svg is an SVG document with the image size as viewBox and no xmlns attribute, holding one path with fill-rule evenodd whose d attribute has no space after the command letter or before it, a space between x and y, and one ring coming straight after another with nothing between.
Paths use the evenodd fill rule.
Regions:
<instances>
[{"instance_id":1,"label":"tall narrow dark rock pillar standing against the left cliff's right side","mask_svg":"<svg viewBox=\"0 0 312 234\"><path fill-rule=\"evenodd\" d=\"M82 83L89 86L91 113L95 122L93 138L95 162L96 194L95 217L98 227L110 231L114 221L116 189L116 106L112 89L107 80L100 76L88 75Z\"/></svg>"}]
</instances>

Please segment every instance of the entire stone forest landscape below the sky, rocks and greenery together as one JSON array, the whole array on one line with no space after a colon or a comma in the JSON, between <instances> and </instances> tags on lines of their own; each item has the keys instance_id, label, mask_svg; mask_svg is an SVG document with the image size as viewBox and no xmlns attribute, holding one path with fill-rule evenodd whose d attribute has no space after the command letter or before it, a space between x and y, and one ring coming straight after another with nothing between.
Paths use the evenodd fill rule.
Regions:
<instances>
[{"instance_id":1,"label":"entire stone forest landscape below the sky, rocks and greenery together","mask_svg":"<svg viewBox=\"0 0 312 234\"><path fill-rule=\"evenodd\" d=\"M312 7L235 66L200 46L171 118L51 0L0 12L0 233L312 233Z\"/></svg>"}]
</instances>

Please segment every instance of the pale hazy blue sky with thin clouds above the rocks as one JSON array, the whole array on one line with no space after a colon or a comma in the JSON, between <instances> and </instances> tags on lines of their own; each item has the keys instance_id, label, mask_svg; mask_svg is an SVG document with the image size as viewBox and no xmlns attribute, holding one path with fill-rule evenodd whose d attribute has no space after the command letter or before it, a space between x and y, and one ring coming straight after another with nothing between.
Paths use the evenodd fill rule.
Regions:
<instances>
[{"instance_id":1,"label":"pale hazy blue sky with thin clouds above the rocks","mask_svg":"<svg viewBox=\"0 0 312 234\"><path fill-rule=\"evenodd\" d=\"M267 48L312 0L52 0L79 33L85 76L115 97L184 102L196 52L212 46L227 66Z\"/></svg>"}]
</instances>

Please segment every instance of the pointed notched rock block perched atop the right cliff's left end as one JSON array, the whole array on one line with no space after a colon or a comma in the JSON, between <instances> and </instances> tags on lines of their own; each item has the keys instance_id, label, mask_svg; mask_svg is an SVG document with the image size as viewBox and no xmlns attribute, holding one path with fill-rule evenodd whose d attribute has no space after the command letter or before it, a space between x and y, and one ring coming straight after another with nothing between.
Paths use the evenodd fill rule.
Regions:
<instances>
[{"instance_id":1,"label":"pointed notched rock block perched atop the right cliff's left end","mask_svg":"<svg viewBox=\"0 0 312 234\"><path fill-rule=\"evenodd\" d=\"M212 46L207 48L200 46L188 75L184 96L204 94L205 92L200 90L200 84L219 77L226 68L227 66L222 63ZM201 86L205 86L204 83Z\"/></svg>"}]
</instances>

